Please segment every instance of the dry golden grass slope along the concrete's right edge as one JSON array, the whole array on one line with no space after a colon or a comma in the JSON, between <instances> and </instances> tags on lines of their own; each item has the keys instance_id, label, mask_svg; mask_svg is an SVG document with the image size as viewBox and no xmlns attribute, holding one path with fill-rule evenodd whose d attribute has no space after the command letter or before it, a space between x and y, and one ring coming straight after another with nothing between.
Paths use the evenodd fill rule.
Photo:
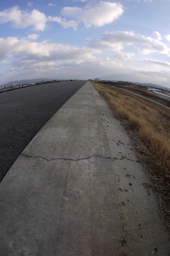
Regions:
<instances>
[{"instance_id":1,"label":"dry golden grass slope along the concrete's right edge","mask_svg":"<svg viewBox=\"0 0 170 256\"><path fill-rule=\"evenodd\" d=\"M170 111L119 89L93 82L131 138L151 188L158 212L170 232Z\"/></svg>"}]
</instances>

